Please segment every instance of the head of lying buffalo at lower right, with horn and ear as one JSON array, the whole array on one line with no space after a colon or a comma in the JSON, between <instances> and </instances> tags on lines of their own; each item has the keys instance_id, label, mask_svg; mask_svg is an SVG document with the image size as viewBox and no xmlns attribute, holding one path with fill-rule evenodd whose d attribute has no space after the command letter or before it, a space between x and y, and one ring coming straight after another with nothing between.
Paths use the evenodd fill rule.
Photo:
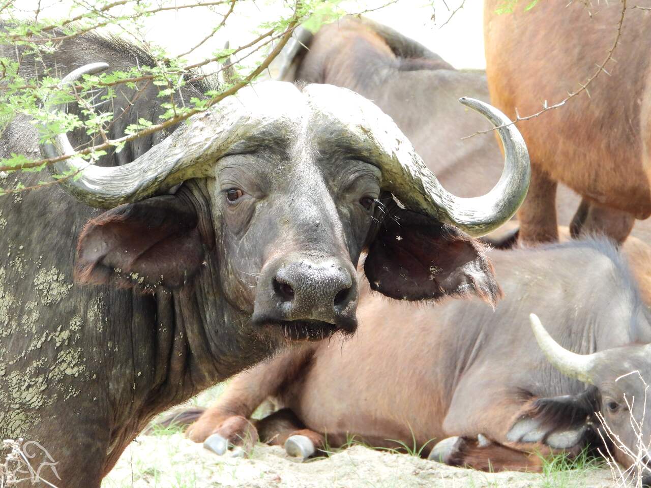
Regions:
<instances>
[{"instance_id":1,"label":"head of lying buffalo at lower right, with horn and ear","mask_svg":"<svg viewBox=\"0 0 651 488\"><path fill-rule=\"evenodd\" d=\"M605 441L607 452L602 454L610 454L633 475L641 474L644 485L651 485L651 347L631 344L580 355L558 344L536 315L530 319L549 362L589 386L581 394L538 399L534 414L519 419L509 435L538 431L549 446L570 451L586 439Z\"/></svg>"}]
</instances>

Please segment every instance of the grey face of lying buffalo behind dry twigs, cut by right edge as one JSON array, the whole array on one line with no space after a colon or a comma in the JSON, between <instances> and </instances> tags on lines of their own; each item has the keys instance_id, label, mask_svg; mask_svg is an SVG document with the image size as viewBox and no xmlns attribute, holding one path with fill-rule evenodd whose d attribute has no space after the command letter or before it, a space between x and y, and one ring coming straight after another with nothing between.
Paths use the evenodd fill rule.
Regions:
<instances>
[{"instance_id":1,"label":"grey face of lying buffalo behind dry twigs, cut by right edge","mask_svg":"<svg viewBox=\"0 0 651 488\"><path fill-rule=\"evenodd\" d=\"M598 411L605 425L622 444L637 456L648 452L651 442L651 395L646 385L651 385L651 349L648 346L625 346L607 351L607 356L594 368L594 386L600 401ZM603 437L607 439L605 427ZM619 441L615 440L615 444ZM642 451L641 451L642 449ZM616 461L630 467L634 459L617 448L611 448ZM642 456L651 467L651 459ZM651 470L643 474L644 485L651 485Z\"/></svg>"}]
</instances>

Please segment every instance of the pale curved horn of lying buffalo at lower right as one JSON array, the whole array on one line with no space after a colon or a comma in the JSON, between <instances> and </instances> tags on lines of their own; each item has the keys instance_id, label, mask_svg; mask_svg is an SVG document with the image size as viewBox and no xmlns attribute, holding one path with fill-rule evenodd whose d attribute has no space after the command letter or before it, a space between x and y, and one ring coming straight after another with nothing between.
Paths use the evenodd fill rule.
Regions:
<instances>
[{"instance_id":1,"label":"pale curved horn of lying buffalo at lower right","mask_svg":"<svg viewBox=\"0 0 651 488\"><path fill-rule=\"evenodd\" d=\"M553 340L549 335L549 332L547 332L542 326L542 323L536 314L530 314L529 321L531 322L533 334L536 336L536 340L538 341L538 346L540 346L540 349L542 349L542 352L554 368L567 377L594 385L590 372L594 367L596 353L581 355L568 351L562 347L561 344Z\"/></svg>"}]
</instances>

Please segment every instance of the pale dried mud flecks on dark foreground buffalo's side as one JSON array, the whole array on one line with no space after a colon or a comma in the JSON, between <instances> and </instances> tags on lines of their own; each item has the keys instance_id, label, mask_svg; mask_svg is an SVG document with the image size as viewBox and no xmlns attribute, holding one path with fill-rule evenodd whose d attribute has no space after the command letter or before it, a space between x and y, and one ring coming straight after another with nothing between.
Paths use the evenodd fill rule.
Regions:
<instances>
[{"instance_id":1,"label":"pale dried mud flecks on dark foreground buffalo's side","mask_svg":"<svg viewBox=\"0 0 651 488\"><path fill-rule=\"evenodd\" d=\"M31 299L21 300L12 281L30 266L20 248L15 245L12 259L0 267L0 439L24 436L38 426L42 412L79 396L74 383L90 377L83 350L76 347L83 314L64 318L65 308L59 311L61 305L56 305L70 296L70 280L56 267L42 269L33 279ZM98 310L100 305L88 306ZM44 306L57 308L54 323Z\"/></svg>"}]
</instances>

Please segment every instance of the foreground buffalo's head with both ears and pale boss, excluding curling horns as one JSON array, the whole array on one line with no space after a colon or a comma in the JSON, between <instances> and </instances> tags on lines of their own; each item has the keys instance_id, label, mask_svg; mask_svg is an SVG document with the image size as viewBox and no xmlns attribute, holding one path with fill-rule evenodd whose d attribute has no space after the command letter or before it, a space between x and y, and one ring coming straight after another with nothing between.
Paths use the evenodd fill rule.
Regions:
<instances>
[{"instance_id":1,"label":"foreground buffalo's head with both ears and pale boss, excluding curling horns","mask_svg":"<svg viewBox=\"0 0 651 488\"><path fill-rule=\"evenodd\" d=\"M396 187L389 183L400 176L391 165L411 154L408 142L382 138L397 130L390 119L342 88L264 86L273 88L269 96L251 90L238 99L245 111L233 103L225 114L202 116L230 116L230 126L195 124L187 140L194 144L189 153L197 152L193 175L201 178L174 195L117 206L85 226L77 282L184 288L179 306L197 304L192 321L221 329L220 344L228 329L241 347L248 347L247 331L270 345L352 334L355 268L365 249L365 275L384 295L475 294L495 303L501 290L475 239L399 208L380 191ZM279 88L283 96L271 96ZM382 122L372 133L370 118Z\"/></svg>"}]
</instances>

